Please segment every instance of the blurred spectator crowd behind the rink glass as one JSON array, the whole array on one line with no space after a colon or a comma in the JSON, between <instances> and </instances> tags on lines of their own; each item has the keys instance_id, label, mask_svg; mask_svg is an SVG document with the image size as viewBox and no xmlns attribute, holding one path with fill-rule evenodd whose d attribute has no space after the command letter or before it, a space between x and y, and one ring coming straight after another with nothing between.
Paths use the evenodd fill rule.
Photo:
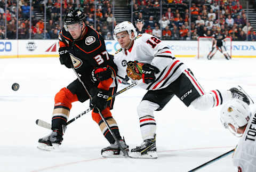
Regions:
<instances>
[{"instance_id":1,"label":"blurred spectator crowd behind the rink glass","mask_svg":"<svg viewBox=\"0 0 256 172\"><path fill-rule=\"evenodd\" d=\"M17 29L18 39L29 39L30 32L32 39L57 39L65 14L71 9L84 11L87 15L86 24L95 28L105 39L113 39L116 19L110 1L62 0L61 3L60 0L47 0L46 9L43 0L32 1L31 9L29 2L19 1L17 28L17 1L7 0L5 6L5 0L0 0L0 39L5 36L7 39L16 39ZM256 40L250 22L246 26L245 11L238 0L192 0L190 9L189 0L163 0L162 16L160 0L132 0L132 5L133 21L139 33L146 32L165 40L197 40L199 36L214 36L220 32L233 40ZM44 14L44 10L46 23L43 15L37 16Z\"/></svg>"}]
</instances>

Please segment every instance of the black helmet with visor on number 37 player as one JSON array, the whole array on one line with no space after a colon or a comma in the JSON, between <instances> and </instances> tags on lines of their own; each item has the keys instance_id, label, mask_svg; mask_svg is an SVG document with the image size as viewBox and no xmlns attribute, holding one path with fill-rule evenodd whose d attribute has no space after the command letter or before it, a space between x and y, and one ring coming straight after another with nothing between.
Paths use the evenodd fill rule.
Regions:
<instances>
[{"instance_id":1,"label":"black helmet with visor on number 37 player","mask_svg":"<svg viewBox=\"0 0 256 172\"><path fill-rule=\"evenodd\" d=\"M64 19L64 28L66 31L68 31L67 26L70 24L75 24L75 23L81 23L86 19L85 14L77 9L77 10L70 10L67 12L65 19Z\"/></svg>"}]
</instances>

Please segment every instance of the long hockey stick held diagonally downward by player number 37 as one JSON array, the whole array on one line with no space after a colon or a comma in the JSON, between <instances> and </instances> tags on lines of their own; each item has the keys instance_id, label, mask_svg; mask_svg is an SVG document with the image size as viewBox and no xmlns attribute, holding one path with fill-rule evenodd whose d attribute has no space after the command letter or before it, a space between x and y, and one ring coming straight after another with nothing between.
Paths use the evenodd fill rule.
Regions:
<instances>
[{"instance_id":1,"label":"long hockey stick held diagonally downward by player number 37","mask_svg":"<svg viewBox=\"0 0 256 172\"><path fill-rule=\"evenodd\" d=\"M78 73L76 72L76 70L75 70L74 68L72 68L72 69L73 69L73 71L76 73L77 79L78 79L78 80L80 81L80 83L83 85L83 87L84 87L84 89L85 89L85 91L86 91L86 94L89 96L89 99L92 100L92 96L91 96L91 94L89 93L89 91L87 90L86 86L84 85L84 82L81 80L81 78L79 77L79 75L78 75ZM119 148L121 149L121 151L123 152L123 154L124 154L126 157L128 157L127 151L124 150L124 148L121 146L120 142L117 140L116 135L112 132L112 130L111 130L111 128L110 128L108 122L107 122L106 119L103 117L103 115L102 115L100 109L99 109L98 107L95 107L95 108L98 110L101 119L103 120L103 122L105 122L105 124L106 124L106 126L107 126L107 128L108 128L108 130L109 130L109 133L113 136L115 142L118 144L118 146L119 146Z\"/></svg>"}]
</instances>

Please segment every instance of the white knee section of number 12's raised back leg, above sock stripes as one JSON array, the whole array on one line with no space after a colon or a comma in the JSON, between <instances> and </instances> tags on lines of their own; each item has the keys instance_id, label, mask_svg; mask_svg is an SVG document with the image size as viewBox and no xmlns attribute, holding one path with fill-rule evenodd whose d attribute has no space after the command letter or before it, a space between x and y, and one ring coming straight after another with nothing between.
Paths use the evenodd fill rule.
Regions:
<instances>
[{"instance_id":1,"label":"white knee section of number 12's raised back leg, above sock stripes","mask_svg":"<svg viewBox=\"0 0 256 172\"><path fill-rule=\"evenodd\" d=\"M214 105L213 95L210 93L197 97L191 105L197 110L209 110Z\"/></svg>"}]
</instances>

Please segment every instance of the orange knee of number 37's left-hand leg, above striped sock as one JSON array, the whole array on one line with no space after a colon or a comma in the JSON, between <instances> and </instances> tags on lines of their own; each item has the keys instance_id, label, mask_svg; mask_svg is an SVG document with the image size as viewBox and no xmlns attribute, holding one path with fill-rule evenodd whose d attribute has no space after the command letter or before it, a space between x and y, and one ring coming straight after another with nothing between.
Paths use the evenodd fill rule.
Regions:
<instances>
[{"instance_id":1,"label":"orange knee of number 37's left-hand leg, above striped sock","mask_svg":"<svg viewBox=\"0 0 256 172\"><path fill-rule=\"evenodd\" d=\"M78 101L77 99L77 95L73 94L69 91L69 89L67 88L62 88L56 95L54 98L54 107L66 107L69 110L72 107L73 102Z\"/></svg>"}]
</instances>

